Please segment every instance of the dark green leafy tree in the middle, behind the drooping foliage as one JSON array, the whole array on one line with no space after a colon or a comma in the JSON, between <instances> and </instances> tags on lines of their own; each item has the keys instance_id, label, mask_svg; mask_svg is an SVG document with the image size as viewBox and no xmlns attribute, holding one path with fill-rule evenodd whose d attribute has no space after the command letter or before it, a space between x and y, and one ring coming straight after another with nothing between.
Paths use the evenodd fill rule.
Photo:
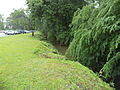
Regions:
<instances>
[{"instance_id":1,"label":"dark green leafy tree in the middle, behind the drooping foliage","mask_svg":"<svg viewBox=\"0 0 120 90\"><path fill-rule=\"evenodd\" d=\"M27 0L34 25L43 35L61 44L70 42L69 24L77 8L86 5L84 0Z\"/></svg>"}]
</instances>

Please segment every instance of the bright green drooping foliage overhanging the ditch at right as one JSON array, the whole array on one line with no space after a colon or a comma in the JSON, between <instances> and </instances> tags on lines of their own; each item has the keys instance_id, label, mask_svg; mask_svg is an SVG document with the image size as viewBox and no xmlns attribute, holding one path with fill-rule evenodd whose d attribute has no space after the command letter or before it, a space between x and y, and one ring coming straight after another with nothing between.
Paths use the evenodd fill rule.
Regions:
<instances>
[{"instance_id":1,"label":"bright green drooping foliage overhanging the ditch at right","mask_svg":"<svg viewBox=\"0 0 120 90\"><path fill-rule=\"evenodd\" d=\"M104 0L99 5L75 12L74 39L66 56L114 80L120 75L120 1Z\"/></svg>"}]
</instances>

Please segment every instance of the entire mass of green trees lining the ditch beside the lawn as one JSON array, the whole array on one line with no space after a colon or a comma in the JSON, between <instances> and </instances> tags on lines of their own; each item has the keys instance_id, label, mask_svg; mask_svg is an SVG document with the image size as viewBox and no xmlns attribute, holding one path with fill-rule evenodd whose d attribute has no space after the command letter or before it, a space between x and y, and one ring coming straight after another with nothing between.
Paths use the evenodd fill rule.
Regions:
<instances>
[{"instance_id":1,"label":"entire mass of green trees lining the ditch beside the lawn","mask_svg":"<svg viewBox=\"0 0 120 90\"><path fill-rule=\"evenodd\" d=\"M34 28L46 39L69 45L69 59L116 83L120 76L119 0L27 0L27 4Z\"/></svg>"}]
</instances>

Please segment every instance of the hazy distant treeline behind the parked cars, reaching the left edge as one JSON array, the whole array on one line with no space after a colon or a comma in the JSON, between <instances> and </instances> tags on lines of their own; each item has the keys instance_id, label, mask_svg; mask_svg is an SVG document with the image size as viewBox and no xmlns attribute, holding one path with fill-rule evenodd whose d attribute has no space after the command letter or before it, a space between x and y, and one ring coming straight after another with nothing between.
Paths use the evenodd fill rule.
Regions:
<instances>
[{"instance_id":1,"label":"hazy distant treeline behind the parked cars, reaching the left edge","mask_svg":"<svg viewBox=\"0 0 120 90\"><path fill-rule=\"evenodd\" d=\"M14 9L7 18L0 14L0 30L33 30L31 14L28 9Z\"/></svg>"}]
</instances>

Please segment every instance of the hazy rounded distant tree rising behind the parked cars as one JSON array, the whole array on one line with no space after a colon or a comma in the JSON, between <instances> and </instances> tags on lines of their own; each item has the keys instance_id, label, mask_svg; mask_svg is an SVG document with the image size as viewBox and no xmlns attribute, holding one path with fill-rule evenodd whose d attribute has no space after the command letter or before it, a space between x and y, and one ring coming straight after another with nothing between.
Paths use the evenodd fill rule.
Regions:
<instances>
[{"instance_id":1,"label":"hazy rounded distant tree rising behind the parked cars","mask_svg":"<svg viewBox=\"0 0 120 90\"><path fill-rule=\"evenodd\" d=\"M28 10L14 10L6 20L6 29L32 29L32 21Z\"/></svg>"}]
</instances>

